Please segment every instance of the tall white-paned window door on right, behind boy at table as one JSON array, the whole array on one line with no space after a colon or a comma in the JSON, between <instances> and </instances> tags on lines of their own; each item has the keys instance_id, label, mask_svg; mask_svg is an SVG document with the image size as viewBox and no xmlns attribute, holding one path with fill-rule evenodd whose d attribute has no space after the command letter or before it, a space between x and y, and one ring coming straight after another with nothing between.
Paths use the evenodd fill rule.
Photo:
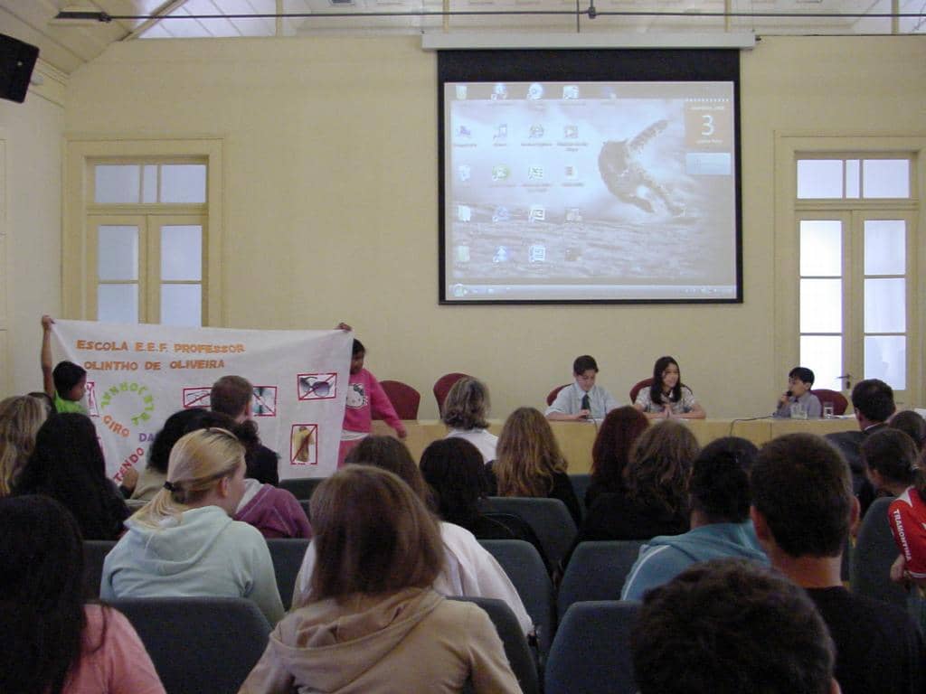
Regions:
<instances>
[{"instance_id":1,"label":"tall white-paned window door on right, behind boy at table","mask_svg":"<svg viewBox=\"0 0 926 694\"><path fill-rule=\"evenodd\" d=\"M815 387L881 378L905 399L916 310L909 156L798 155L800 362Z\"/></svg>"}]
</instances>

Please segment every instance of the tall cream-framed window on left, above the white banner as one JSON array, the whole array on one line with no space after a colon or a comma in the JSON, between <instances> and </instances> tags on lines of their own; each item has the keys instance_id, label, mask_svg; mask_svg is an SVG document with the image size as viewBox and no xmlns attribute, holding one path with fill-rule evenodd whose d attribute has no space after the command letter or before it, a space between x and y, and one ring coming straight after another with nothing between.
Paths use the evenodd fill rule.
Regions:
<instances>
[{"instance_id":1,"label":"tall cream-framed window on left, above the white banner","mask_svg":"<svg viewBox=\"0 0 926 694\"><path fill-rule=\"evenodd\" d=\"M206 286L206 163L91 160L90 317L201 326Z\"/></svg>"}]
</instances>

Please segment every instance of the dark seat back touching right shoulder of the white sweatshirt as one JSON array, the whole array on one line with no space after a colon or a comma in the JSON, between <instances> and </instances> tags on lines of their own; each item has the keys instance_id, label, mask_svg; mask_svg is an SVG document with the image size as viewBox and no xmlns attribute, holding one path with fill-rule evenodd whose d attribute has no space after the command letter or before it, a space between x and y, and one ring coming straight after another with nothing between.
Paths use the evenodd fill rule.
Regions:
<instances>
[{"instance_id":1,"label":"dark seat back touching right shoulder of the white sweatshirt","mask_svg":"<svg viewBox=\"0 0 926 694\"><path fill-rule=\"evenodd\" d=\"M553 641L556 597L540 554L523 539L481 539L479 543L502 565L514 584L537 627L537 646L545 656Z\"/></svg>"}]
</instances>

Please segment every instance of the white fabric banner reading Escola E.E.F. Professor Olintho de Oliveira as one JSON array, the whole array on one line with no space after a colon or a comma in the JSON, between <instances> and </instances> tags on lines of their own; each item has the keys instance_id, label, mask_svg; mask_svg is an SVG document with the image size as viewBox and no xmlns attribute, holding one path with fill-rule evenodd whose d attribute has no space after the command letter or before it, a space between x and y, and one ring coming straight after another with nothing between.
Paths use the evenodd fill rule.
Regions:
<instances>
[{"instance_id":1,"label":"white fabric banner reading Escola E.E.F. Professor Olintho de Oliveira","mask_svg":"<svg viewBox=\"0 0 926 694\"><path fill-rule=\"evenodd\" d=\"M208 407L222 376L254 385L261 442L280 454L280 478L328 477L337 467L352 333L236 330L57 320L53 361L87 370L84 406L106 471L141 471L155 434L182 408Z\"/></svg>"}]
</instances>

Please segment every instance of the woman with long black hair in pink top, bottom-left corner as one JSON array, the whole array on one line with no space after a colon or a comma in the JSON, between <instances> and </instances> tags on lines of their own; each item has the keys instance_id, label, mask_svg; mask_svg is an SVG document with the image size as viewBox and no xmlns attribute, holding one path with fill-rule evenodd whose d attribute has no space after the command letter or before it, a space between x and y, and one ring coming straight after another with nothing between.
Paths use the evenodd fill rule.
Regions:
<instances>
[{"instance_id":1,"label":"woman with long black hair in pink top, bottom-left corner","mask_svg":"<svg viewBox=\"0 0 926 694\"><path fill-rule=\"evenodd\" d=\"M84 604L73 515L46 496L0 499L0 691L164 694L129 621Z\"/></svg>"}]
</instances>

